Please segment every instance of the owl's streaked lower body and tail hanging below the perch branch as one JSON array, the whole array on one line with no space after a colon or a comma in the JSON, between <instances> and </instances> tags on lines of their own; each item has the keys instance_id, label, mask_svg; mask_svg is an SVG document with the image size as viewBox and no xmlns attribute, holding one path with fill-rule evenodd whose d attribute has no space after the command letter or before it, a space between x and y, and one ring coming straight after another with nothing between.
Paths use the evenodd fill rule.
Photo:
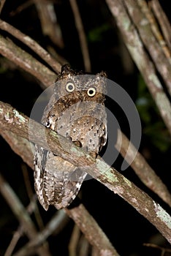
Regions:
<instances>
[{"instance_id":1,"label":"owl's streaked lower body and tail hanging below the perch branch","mask_svg":"<svg viewBox=\"0 0 171 256\"><path fill-rule=\"evenodd\" d=\"M34 184L39 202L47 210L49 205L65 208L75 199L86 173L52 152L37 146L34 157ZM41 165L41 167L40 167Z\"/></svg>"}]
</instances>

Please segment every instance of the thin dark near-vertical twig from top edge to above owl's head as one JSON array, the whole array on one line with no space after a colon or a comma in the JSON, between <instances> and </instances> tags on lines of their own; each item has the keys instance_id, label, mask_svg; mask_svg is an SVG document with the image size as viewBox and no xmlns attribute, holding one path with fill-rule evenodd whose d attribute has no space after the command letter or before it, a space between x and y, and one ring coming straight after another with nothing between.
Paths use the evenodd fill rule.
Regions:
<instances>
[{"instance_id":1,"label":"thin dark near-vertical twig from top edge to above owl's head","mask_svg":"<svg viewBox=\"0 0 171 256\"><path fill-rule=\"evenodd\" d=\"M77 33L80 38L80 47L83 53L83 61L84 61L84 67L87 72L91 72L91 61L90 61L90 56L88 53L88 45L87 45L87 40L86 40L86 34L83 28L83 23L80 17L80 12L77 7L77 1L75 0L69 0L71 7L72 7L72 12L75 17L75 26L77 28Z\"/></svg>"}]
</instances>

